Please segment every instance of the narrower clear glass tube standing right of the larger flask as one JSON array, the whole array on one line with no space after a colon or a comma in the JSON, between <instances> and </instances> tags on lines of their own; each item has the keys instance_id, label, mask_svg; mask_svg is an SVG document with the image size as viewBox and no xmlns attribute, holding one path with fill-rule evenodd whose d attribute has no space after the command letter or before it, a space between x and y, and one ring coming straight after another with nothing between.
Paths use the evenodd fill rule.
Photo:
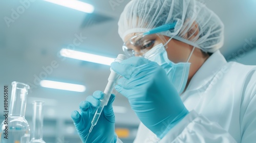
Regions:
<instances>
[{"instance_id":1,"label":"narrower clear glass tube standing right of the larger flask","mask_svg":"<svg viewBox=\"0 0 256 143\"><path fill-rule=\"evenodd\" d=\"M33 101L33 128L30 143L46 143L42 140L44 115L42 114L43 101Z\"/></svg>"}]
</instances>

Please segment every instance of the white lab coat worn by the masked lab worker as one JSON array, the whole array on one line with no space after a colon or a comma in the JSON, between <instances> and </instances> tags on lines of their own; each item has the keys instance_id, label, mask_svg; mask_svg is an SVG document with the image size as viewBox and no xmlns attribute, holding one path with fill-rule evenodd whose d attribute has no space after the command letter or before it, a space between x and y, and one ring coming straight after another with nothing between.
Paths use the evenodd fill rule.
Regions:
<instances>
[{"instance_id":1,"label":"white lab coat worn by the masked lab worker","mask_svg":"<svg viewBox=\"0 0 256 143\"><path fill-rule=\"evenodd\" d=\"M140 123L134 143L256 142L256 66L227 62L217 51L181 99L190 111L181 122L161 140Z\"/></svg>"}]
</instances>

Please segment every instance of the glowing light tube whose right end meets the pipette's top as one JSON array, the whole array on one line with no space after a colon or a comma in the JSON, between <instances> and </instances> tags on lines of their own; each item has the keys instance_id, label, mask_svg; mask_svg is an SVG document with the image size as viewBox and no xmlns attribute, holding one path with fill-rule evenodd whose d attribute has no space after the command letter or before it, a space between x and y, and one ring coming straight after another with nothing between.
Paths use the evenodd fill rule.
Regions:
<instances>
[{"instance_id":1,"label":"glowing light tube whose right end meets the pipette's top","mask_svg":"<svg viewBox=\"0 0 256 143\"><path fill-rule=\"evenodd\" d=\"M83 53L83 52L69 50L69 49L61 49L60 55L63 57L68 57L68 58L73 58L73 59L88 61L93 63L99 63L104 65L110 65L115 60L114 58L103 57L99 55Z\"/></svg>"}]
</instances>

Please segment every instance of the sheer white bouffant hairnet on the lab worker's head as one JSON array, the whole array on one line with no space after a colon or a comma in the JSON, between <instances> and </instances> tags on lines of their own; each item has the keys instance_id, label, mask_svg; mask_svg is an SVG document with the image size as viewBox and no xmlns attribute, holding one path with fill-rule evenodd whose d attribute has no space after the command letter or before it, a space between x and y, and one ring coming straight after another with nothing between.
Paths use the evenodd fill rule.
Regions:
<instances>
[{"instance_id":1,"label":"sheer white bouffant hairnet on the lab worker's head","mask_svg":"<svg viewBox=\"0 0 256 143\"><path fill-rule=\"evenodd\" d=\"M124 40L128 34L147 32L174 21L177 21L175 30L162 32L162 35L179 36L209 53L222 47L222 21L204 4L195 0L132 0L120 16L118 33Z\"/></svg>"}]
</instances>

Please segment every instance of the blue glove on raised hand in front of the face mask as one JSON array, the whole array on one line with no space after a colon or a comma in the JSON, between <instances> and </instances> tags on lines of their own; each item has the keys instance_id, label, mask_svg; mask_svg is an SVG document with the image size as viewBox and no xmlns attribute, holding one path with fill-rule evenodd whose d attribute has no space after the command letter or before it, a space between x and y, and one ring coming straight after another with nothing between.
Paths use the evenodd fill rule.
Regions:
<instances>
[{"instance_id":1,"label":"blue glove on raised hand in front of the face mask","mask_svg":"<svg viewBox=\"0 0 256 143\"><path fill-rule=\"evenodd\" d=\"M188 114L180 96L156 62L131 57L111 68L123 76L115 86L136 112L140 121L159 138Z\"/></svg>"}]
</instances>

